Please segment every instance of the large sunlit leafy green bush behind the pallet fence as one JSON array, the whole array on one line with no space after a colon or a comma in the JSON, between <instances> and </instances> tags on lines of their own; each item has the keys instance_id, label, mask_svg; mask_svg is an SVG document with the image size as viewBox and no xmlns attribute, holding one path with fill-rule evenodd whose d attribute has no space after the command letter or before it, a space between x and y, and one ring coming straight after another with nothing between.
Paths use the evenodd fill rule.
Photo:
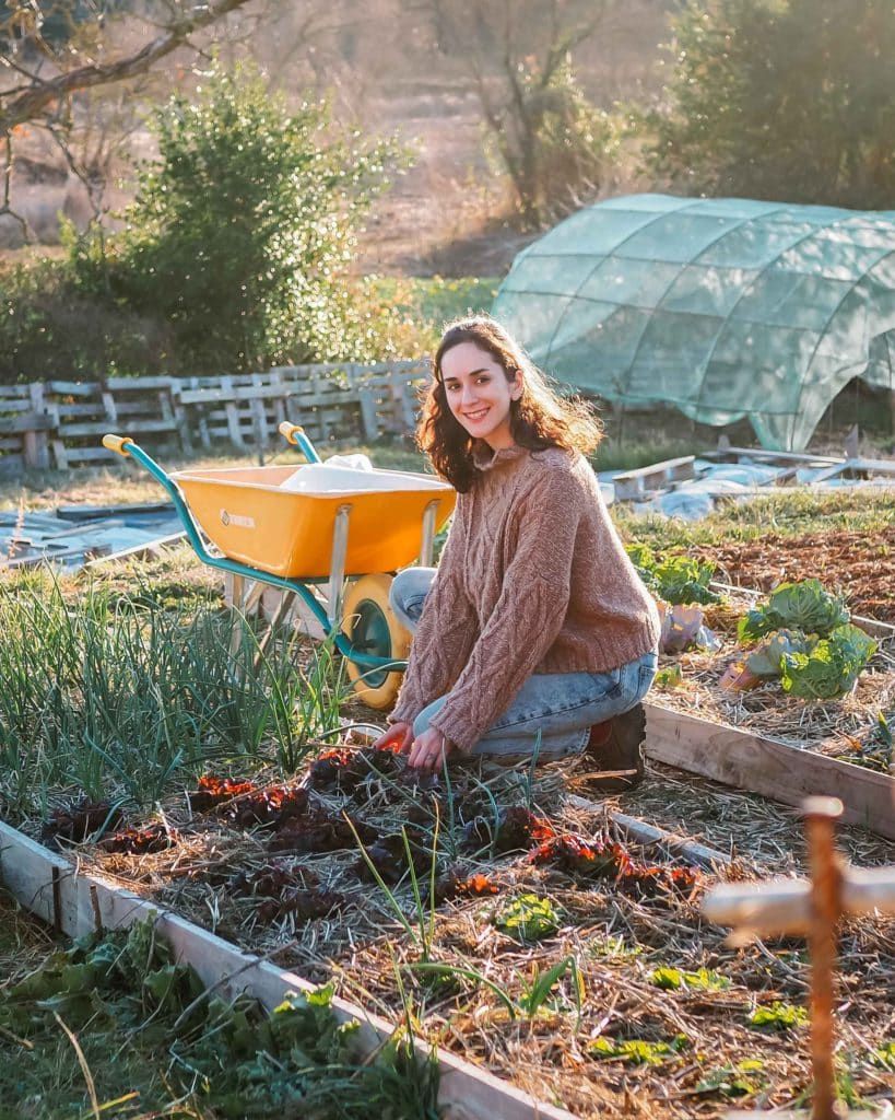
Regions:
<instances>
[{"instance_id":1,"label":"large sunlit leafy green bush behind the pallet fence","mask_svg":"<svg viewBox=\"0 0 895 1120\"><path fill-rule=\"evenodd\" d=\"M290 112L256 71L219 64L152 129L124 232L69 236L82 289L169 323L190 372L371 357L343 281L397 148L332 140L323 104Z\"/></svg>"}]
</instances>

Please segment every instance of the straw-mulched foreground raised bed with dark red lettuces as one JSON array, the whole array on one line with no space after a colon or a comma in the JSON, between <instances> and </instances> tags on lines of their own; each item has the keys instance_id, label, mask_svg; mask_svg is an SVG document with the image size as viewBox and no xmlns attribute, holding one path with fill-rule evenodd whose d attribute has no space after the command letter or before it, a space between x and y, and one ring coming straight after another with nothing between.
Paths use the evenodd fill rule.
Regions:
<instances>
[{"instance_id":1,"label":"straw-mulched foreground raised bed with dark red lettuces","mask_svg":"<svg viewBox=\"0 0 895 1120\"><path fill-rule=\"evenodd\" d=\"M298 788L261 796L208 782L166 799L150 821L119 822L143 836L87 838L68 853L81 874L44 871L36 900L50 920L74 914L82 926L170 908L179 917L163 928L175 939L186 917L265 958L251 976L271 999L285 968L312 983L335 980L365 1015L389 1021L409 1000L424 1038L576 1116L712 1117L735 1099L791 1101L809 1076L801 948L726 948L724 932L699 917L714 876L657 859L654 846L615 846L603 806L569 801L566 777L470 773L450 792L423 790L393 757L336 755ZM55 831L68 847L65 836L77 837L87 816L58 814L47 840ZM22 824L37 833L37 822ZM313 850L302 850L311 838ZM129 850L142 844L158 850ZM876 853L887 856L891 848ZM18 855L3 857L4 875L10 867L26 874ZM741 856L720 874L755 870ZM85 871L140 902L120 890L106 900ZM207 945L204 978L216 982L233 968L217 941ZM872 920L849 925L844 950L863 961L842 980L854 1027L845 1056L855 1091L875 1099L885 1095L878 1063L891 1040L895 956ZM465 1108L463 1093L452 1100ZM517 1114L496 1100L486 1098L486 1111Z\"/></svg>"}]
</instances>

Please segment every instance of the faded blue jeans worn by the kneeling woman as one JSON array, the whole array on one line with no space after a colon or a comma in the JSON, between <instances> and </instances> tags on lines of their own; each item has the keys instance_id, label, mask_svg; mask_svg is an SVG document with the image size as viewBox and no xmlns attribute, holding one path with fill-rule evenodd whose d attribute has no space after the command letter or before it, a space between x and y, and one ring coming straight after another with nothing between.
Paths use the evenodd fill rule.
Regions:
<instances>
[{"instance_id":1,"label":"faded blue jeans worn by the kneeling woman","mask_svg":"<svg viewBox=\"0 0 895 1120\"><path fill-rule=\"evenodd\" d=\"M392 584L390 604L411 633L423 613L434 568L407 568ZM644 653L605 673L535 673L472 748L472 755L501 760L530 758L536 746L544 762L584 750L593 724L630 711L656 676L658 654ZM422 735L447 697L427 704L413 725Z\"/></svg>"}]
</instances>

